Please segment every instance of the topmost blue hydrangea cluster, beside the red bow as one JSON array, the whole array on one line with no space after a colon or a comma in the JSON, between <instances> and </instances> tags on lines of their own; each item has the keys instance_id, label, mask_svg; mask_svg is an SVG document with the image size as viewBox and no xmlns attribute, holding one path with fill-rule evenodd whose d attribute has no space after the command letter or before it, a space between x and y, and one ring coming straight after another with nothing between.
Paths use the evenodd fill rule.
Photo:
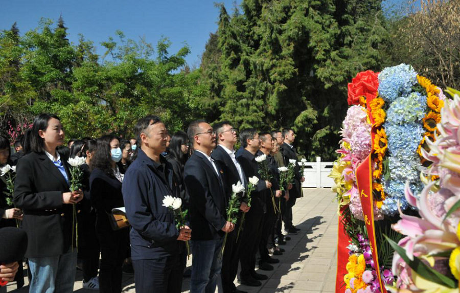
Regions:
<instances>
[{"instance_id":1,"label":"topmost blue hydrangea cluster, beside the red bow","mask_svg":"<svg viewBox=\"0 0 460 293\"><path fill-rule=\"evenodd\" d=\"M417 82L417 73L411 65L399 64L386 67L379 74L379 95L385 102L393 102L398 97L409 95Z\"/></svg>"}]
</instances>

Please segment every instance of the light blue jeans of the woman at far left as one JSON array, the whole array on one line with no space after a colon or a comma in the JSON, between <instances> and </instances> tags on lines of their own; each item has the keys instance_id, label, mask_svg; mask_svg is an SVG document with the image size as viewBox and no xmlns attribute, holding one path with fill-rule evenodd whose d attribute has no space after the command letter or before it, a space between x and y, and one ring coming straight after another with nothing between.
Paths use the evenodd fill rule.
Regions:
<instances>
[{"instance_id":1,"label":"light blue jeans of the woman at far left","mask_svg":"<svg viewBox=\"0 0 460 293\"><path fill-rule=\"evenodd\" d=\"M50 257L29 258L32 279L29 293L72 293L77 269L77 250Z\"/></svg>"}]
</instances>

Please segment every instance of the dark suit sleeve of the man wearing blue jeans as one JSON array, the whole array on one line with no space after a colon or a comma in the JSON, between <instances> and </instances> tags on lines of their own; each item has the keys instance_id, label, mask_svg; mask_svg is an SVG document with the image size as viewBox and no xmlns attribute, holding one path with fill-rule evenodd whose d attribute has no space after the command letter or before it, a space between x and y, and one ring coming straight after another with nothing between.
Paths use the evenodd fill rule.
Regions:
<instances>
[{"instance_id":1,"label":"dark suit sleeve of the man wearing blue jeans","mask_svg":"<svg viewBox=\"0 0 460 293\"><path fill-rule=\"evenodd\" d=\"M220 231L226 223L214 203L210 193L210 186L206 173L196 161L189 161L184 170L184 181L190 200L204 218L212 224L216 231Z\"/></svg>"}]
</instances>

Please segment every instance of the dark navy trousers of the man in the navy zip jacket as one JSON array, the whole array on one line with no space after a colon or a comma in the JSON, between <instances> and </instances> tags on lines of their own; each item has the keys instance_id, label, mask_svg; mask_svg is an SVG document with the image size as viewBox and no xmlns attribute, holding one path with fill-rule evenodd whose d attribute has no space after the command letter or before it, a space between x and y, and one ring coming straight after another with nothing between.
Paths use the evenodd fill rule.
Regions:
<instances>
[{"instance_id":1,"label":"dark navy trousers of the man in the navy zip jacket","mask_svg":"<svg viewBox=\"0 0 460 293\"><path fill-rule=\"evenodd\" d=\"M227 240L228 241L228 240ZM136 293L180 293L185 262L181 254L132 260Z\"/></svg>"}]
</instances>

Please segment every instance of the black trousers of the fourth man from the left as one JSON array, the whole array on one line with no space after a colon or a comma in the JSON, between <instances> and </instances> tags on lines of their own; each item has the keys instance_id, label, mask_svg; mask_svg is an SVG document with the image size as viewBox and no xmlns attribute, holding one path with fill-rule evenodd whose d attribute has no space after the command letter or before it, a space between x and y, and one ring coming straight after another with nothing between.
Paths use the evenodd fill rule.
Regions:
<instances>
[{"instance_id":1,"label":"black trousers of the fourth man from the left","mask_svg":"<svg viewBox=\"0 0 460 293\"><path fill-rule=\"evenodd\" d=\"M259 249L262 235L261 224L264 217L263 205L258 200L260 199L252 200L251 209L246 213L243 231L240 234L240 245L242 247L240 253L240 277L242 280L247 280L250 278L251 273L256 271L256 254Z\"/></svg>"}]
</instances>

